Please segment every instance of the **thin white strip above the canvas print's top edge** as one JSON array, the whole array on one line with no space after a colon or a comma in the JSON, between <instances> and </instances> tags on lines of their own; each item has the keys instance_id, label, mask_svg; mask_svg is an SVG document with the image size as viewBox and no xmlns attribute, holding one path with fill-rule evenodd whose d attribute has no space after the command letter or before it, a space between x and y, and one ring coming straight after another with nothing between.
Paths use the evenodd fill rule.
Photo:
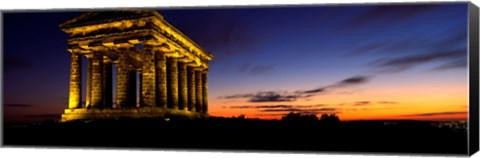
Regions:
<instances>
[{"instance_id":1,"label":"thin white strip above the canvas print's top edge","mask_svg":"<svg viewBox=\"0 0 480 158\"><path fill-rule=\"evenodd\" d=\"M0 3L0 10L12 9L88 9L115 7L191 7L191 6L245 6L286 4L348 4L348 3L408 3L408 2L465 2L466 0L10 0Z\"/></svg>"}]
</instances>

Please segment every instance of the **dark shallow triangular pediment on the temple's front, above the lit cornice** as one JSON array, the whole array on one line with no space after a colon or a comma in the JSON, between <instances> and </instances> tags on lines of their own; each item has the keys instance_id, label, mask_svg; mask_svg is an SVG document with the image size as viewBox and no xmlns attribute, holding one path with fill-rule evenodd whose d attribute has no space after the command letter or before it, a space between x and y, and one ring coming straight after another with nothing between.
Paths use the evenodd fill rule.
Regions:
<instances>
[{"instance_id":1,"label":"dark shallow triangular pediment on the temple's front, above the lit cornice","mask_svg":"<svg viewBox=\"0 0 480 158\"><path fill-rule=\"evenodd\" d=\"M162 16L158 12L148 10L95 11L87 12L76 18L67 20L60 24L60 28L68 29L92 24L108 23L112 21L148 16L157 16L162 18Z\"/></svg>"}]
</instances>

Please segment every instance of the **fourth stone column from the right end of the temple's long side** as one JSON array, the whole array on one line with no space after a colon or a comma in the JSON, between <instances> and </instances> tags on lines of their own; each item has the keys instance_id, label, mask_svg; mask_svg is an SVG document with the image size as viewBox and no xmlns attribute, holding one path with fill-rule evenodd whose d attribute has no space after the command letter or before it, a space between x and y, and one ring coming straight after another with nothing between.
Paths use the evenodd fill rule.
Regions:
<instances>
[{"instance_id":1,"label":"fourth stone column from the right end of the temple's long side","mask_svg":"<svg viewBox=\"0 0 480 158\"><path fill-rule=\"evenodd\" d=\"M187 64L178 62L178 109L188 110Z\"/></svg>"}]
</instances>

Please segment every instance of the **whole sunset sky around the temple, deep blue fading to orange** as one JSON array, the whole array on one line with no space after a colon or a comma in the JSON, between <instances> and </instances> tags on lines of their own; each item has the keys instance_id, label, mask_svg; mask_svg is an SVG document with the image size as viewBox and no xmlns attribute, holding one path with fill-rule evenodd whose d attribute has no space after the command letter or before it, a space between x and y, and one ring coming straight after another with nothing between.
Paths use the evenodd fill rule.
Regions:
<instances>
[{"instance_id":1,"label":"whole sunset sky around the temple, deep blue fading to orange","mask_svg":"<svg viewBox=\"0 0 480 158\"><path fill-rule=\"evenodd\" d=\"M467 3L158 11L214 54L212 116L467 118ZM6 121L67 108L70 53L58 25L82 13L3 15Z\"/></svg>"}]
</instances>

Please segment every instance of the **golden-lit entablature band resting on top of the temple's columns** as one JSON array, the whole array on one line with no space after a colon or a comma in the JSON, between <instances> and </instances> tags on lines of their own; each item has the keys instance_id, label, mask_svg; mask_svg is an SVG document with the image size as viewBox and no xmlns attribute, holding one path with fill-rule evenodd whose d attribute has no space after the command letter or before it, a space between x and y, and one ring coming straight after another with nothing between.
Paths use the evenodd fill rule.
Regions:
<instances>
[{"instance_id":1,"label":"golden-lit entablature band resting on top of the temple's columns","mask_svg":"<svg viewBox=\"0 0 480 158\"><path fill-rule=\"evenodd\" d=\"M94 17L94 14L86 13L60 25L69 34L69 49L153 45L156 51L164 51L168 56L181 57L205 68L213 58L212 54L168 23L158 12L136 11L132 13L135 16L89 22L88 18ZM76 21L79 21L78 24Z\"/></svg>"}]
</instances>

